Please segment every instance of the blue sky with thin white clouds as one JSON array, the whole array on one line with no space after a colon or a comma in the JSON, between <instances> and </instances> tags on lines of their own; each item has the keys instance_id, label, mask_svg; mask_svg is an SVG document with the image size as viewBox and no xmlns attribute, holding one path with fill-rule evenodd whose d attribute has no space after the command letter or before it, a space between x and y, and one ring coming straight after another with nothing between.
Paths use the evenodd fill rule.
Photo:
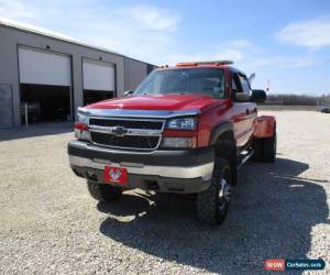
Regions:
<instances>
[{"instance_id":1,"label":"blue sky with thin white clouds","mask_svg":"<svg viewBox=\"0 0 330 275\"><path fill-rule=\"evenodd\" d=\"M330 94L329 0L0 0L0 18L155 65L231 59L271 94Z\"/></svg>"}]
</instances>

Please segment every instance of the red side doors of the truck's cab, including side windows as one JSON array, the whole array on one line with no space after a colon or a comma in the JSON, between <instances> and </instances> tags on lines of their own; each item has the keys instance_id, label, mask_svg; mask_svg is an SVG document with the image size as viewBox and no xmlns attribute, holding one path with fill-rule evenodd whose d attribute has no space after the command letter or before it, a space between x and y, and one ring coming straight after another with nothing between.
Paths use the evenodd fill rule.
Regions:
<instances>
[{"instance_id":1,"label":"red side doors of the truck's cab, including side windows","mask_svg":"<svg viewBox=\"0 0 330 275\"><path fill-rule=\"evenodd\" d=\"M256 107L250 100L251 89L246 76L232 74L232 96L234 101L234 134L238 147L244 146L252 133L256 118Z\"/></svg>"}]
</instances>

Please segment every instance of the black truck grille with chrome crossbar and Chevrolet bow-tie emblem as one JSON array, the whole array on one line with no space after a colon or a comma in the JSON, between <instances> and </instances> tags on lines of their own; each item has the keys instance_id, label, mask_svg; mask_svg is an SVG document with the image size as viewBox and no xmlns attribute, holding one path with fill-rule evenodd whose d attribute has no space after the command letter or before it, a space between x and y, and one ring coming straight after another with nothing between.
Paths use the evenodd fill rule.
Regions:
<instances>
[{"instance_id":1,"label":"black truck grille with chrome crossbar and Chevrolet bow-tie emblem","mask_svg":"<svg viewBox=\"0 0 330 275\"><path fill-rule=\"evenodd\" d=\"M89 118L89 132L91 142L97 145L155 150L161 143L164 123L147 119Z\"/></svg>"}]
</instances>

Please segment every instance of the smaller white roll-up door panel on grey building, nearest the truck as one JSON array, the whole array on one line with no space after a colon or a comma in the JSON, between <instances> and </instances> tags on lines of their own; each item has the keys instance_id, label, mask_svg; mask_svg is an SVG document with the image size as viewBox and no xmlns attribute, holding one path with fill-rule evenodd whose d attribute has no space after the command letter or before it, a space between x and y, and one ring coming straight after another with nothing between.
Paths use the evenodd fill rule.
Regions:
<instances>
[{"instance_id":1,"label":"smaller white roll-up door panel on grey building, nearest the truck","mask_svg":"<svg viewBox=\"0 0 330 275\"><path fill-rule=\"evenodd\" d=\"M84 89L114 91L114 65L91 59L82 61Z\"/></svg>"}]
</instances>

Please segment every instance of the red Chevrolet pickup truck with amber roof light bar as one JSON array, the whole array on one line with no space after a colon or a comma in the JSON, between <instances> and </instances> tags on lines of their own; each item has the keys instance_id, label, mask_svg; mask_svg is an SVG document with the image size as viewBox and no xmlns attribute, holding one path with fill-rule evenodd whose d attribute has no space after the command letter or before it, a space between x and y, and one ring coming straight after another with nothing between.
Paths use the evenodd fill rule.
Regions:
<instances>
[{"instance_id":1,"label":"red Chevrolet pickup truck with amber roof light bar","mask_svg":"<svg viewBox=\"0 0 330 275\"><path fill-rule=\"evenodd\" d=\"M78 109L70 167L97 200L134 188L195 194L199 221L220 224L238 169L275 161L275 118L257 117L265 98L230 62L160 67L135 91Z\"/></svg>"}]
</instances>

